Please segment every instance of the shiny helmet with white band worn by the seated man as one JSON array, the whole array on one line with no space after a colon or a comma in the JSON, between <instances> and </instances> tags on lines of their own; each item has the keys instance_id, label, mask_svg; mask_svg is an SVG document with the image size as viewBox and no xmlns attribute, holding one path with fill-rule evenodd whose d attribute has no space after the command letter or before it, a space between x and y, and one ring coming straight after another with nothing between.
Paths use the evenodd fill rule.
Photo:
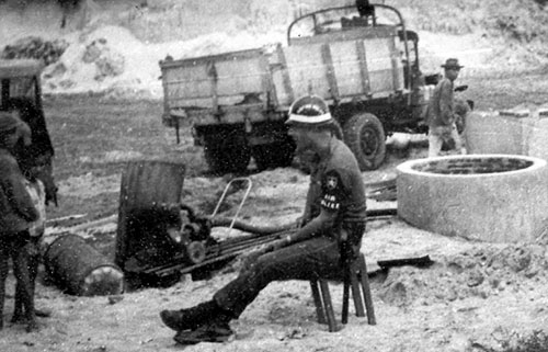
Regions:
<instances>
[{"instance_id":1,"label":"shiny helmet with white band worn by the seated man","mask_svg":"<svg viewBox=\"0 0 548 352\"><path fill-rule=\"evenodd\" d=\"M333 123L329 106L317 95L305 95L297 99L289 107L287 125L312 127Z\"/></svg>"}]
</instances>

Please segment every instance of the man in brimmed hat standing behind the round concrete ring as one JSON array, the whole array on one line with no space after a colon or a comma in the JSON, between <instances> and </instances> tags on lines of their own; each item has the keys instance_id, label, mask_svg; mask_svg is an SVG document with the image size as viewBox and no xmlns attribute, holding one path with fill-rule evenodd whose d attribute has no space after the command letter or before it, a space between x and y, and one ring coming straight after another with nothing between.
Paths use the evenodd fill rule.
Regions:
<instances>
[{"instance_id":1,"label":"man in brimmed hat standing behind the round concrete ring","mask_svg":"<svg viewBox=\"0 0 548 352\"><path fill-rule=\"evenodd\" d=\"M445 69L445 77L434 89L427 111L429 158L437 157L444 141L450 143L452 139L455 141L455 149L460 154L466 154L455 125L454 98L454 82L463 66L456 58L449 58L442 67Z\"/></svg>"}]
</instances>

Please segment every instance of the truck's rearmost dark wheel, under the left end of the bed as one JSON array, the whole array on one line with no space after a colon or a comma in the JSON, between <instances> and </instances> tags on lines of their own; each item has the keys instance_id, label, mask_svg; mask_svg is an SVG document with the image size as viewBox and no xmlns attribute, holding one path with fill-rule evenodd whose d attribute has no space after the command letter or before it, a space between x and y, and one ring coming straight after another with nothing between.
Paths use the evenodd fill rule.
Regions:
<instances>
[{"instance_id":1,"label":"truck's rearmost dark wheel, under the left end of the bed","mask_svg":"<svg viewBox=\"0 0 548 352\"><path fill-rule=\"evenodd\" d=\"M204 148L209 170L213 172L241 172L248 168L251 151L244 143L230 141L222 145L213 143Z\"/></svg>"}]
</instances>

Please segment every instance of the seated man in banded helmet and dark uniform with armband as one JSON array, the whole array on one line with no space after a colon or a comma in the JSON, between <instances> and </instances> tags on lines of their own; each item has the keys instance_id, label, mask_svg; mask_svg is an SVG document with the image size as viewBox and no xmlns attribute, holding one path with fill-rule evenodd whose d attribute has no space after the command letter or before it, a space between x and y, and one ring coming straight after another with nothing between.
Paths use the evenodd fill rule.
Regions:
<instances>
[{"instance_id":1,"label":"seated man in banded helmet and dark uniform with armband","mask_svg":"<svg viewBox=\"0 0 548 352\"><path fill-rule=\"evenodd\" d=\"M162 310L165 326L179 331L175 341L190 344L222 341L229 321L273 281L342 277L343 266L359 252L365 231L365 189L357 161L334 135L334 120L319 96L298 99L289 109L289 135L297 152L317 156L310 177L301 227L254 258L212 300L181 310Z\"/></svg>"}]
</instances>

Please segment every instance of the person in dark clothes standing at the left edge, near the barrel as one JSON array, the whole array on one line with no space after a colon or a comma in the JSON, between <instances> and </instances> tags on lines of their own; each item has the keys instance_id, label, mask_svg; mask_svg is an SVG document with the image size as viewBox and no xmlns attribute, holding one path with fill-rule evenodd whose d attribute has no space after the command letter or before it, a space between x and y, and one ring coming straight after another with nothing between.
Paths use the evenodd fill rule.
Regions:
<instances>
[{"instance_id":1,"label":"person in dark clothes standing at the left edge, near the barrel","mask_svg":"<svg viewBox=\"0 0 548 352\"><path fill-rule=\"evenodd\" d=\"M22 300L26 309L27 331L37 328L34 315L34 297L27 268L30 223L38 218L31 195L24 185L24 177L12 150L20 137L21 121L11 113L0 113L0 317L3 316L8 261L13 261L13 273L22 287ZM0 327L3 321L0 320Z\"/></svg>"}]
</instances>

